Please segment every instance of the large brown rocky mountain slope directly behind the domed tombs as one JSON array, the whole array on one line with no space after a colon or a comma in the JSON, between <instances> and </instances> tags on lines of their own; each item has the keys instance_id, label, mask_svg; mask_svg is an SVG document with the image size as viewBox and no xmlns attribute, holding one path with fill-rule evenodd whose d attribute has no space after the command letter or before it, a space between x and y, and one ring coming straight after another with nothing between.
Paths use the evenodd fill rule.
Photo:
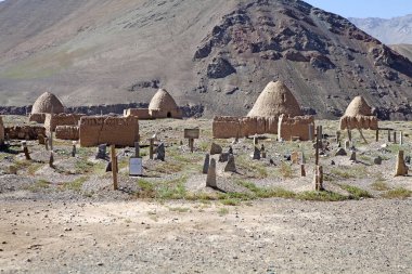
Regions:
<instances>
[{"instance_id":1,"label":"large brown rocky mountain slope directly behind the domed tombs","mask_svg":"<svg viewBox=\"0 0 412 274\"><path fill-rule=\"evenodd\" d=\"M246 115L281 79L320 117L362 94L412 118L412 63L302 1L5 0L0 26L1 105L146 103L164 87L206 116Z\"/></svg>"}]
</instances>

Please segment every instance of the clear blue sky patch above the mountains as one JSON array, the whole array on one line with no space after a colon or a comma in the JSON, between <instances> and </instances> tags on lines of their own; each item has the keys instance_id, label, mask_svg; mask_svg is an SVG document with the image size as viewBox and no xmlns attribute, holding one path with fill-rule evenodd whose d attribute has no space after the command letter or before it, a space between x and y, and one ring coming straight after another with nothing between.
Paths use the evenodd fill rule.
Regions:
<instances>
[{"instance_id":1,"label":"clear blue sky patch above the mountains","mask_svg":"<svg viewBox=\"0 0 412 274\"><path fill-rule=\"evenodd\" d=\"M412 0L304 0L344 17L391 18L412 14Z\"/></svg>"}]
</instances>

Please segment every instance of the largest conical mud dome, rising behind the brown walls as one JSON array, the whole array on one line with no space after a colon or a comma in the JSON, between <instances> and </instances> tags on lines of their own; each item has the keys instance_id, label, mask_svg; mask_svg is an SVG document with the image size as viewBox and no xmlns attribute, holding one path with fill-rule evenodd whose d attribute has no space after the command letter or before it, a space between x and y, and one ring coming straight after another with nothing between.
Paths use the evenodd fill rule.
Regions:
<instances>
[{"instance_id":1,"label":"largest conical mud dome, rising behind the brown walls","mask_svg":"<svg viewBox=\"0 0 412 274\"><path fill-rule=\"evenodd\" d=\"M271 81L260 93L247 116L272 117L281 114L291 117L302 115L292 91L282 81Z\"/></svg>"}]
</instances>

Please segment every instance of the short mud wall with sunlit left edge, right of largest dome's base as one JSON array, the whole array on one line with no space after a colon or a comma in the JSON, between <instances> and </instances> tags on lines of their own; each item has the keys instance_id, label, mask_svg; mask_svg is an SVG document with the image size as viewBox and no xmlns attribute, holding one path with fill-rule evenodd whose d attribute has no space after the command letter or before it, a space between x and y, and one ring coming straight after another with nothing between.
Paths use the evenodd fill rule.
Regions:
<instances>
[{"instance_id":1,"label":"short mud wall with sunlit left edge, right of largest dome's base","mask_svg":"<svg viewBox=\"0 0 412 274\"><path fill-rule=\"evenodd\" d=\"M313 116L281 115L278 122L278 139L291 141L293 138L299 138L300 141L309 141L309 125L314 128Z\"/></svg>"}]
</instances>

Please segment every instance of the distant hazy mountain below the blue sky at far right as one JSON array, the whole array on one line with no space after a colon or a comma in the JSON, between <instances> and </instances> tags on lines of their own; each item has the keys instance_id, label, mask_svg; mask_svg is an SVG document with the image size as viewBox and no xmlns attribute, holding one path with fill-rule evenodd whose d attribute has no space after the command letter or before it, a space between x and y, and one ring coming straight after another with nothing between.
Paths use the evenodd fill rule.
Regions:
<instances>
[{"instance_id":1,"label":"distant hazy mountain below the blue sky at far right","mask_svg":"<svg viewBox=\"0 0 412 274\"><path fill-rule=\"evenodd\" d=\"M349 21L383 43L412 43L412 14L390 19L349 18Z\"/></svg>"}]
</instances>

